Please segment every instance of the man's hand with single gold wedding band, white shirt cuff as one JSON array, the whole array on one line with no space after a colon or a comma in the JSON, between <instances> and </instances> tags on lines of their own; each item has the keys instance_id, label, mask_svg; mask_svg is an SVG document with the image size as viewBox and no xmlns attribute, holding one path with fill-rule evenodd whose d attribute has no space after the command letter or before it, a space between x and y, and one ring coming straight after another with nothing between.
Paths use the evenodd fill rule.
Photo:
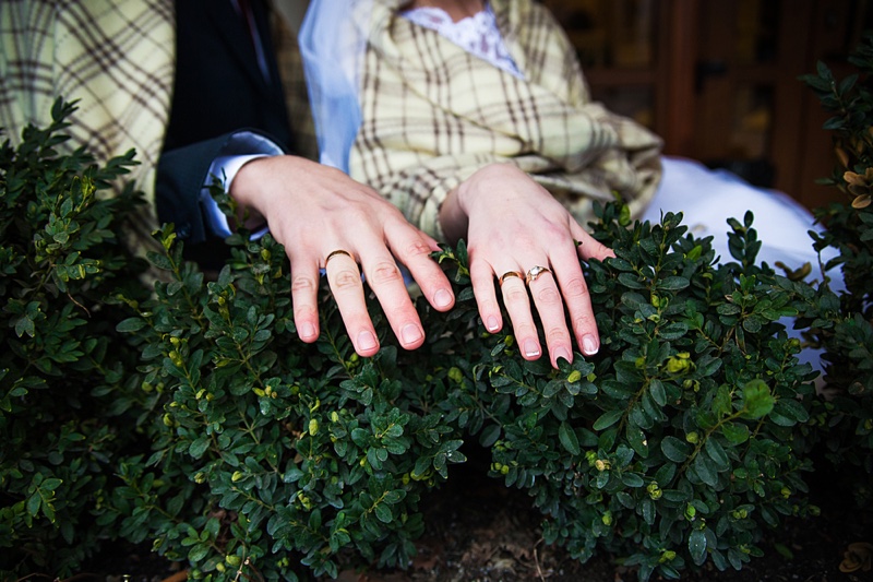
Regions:
<instances>
[{"instance_id":1,"label":"man's hand with single gold wedding band, white shirt cuff","mask_svg":"<svg viewBox=\"0 0 873 582\"><path fill-rule=\"evenodd\" d=\"M439 250L436 242L375 191L337 169L296 156L256 158L239 170L230 195L263 216L273 237L285 246L291 262L295 324L303 342L319 337L322 268L361 356L375 354L379 340L367 312L358 263L406 349L424 342L424 330L397 261L435 309L446 311L454 305L449 280L430 258Z\"/></svg>"}]
</instances>

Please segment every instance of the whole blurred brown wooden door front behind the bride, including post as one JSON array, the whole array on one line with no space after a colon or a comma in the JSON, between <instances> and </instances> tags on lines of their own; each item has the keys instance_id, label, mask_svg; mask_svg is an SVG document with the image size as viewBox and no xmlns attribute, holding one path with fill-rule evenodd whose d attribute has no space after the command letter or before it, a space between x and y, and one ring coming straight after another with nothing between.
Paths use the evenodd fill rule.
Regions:
<instances>
[{"instance_id":1,"label":"whole blurred brown wooden door front behind the bride, including post","mask_svg":"<svg viewBox=\"0 0 873 582\"><path fill-rule=\"evenodd\" d=\"M665 152L725 167L812 209L841 199L827 116L798 76L839 80L873 26L870 0L542 0L594 98L651 128Z\"/></svg>"}]
</instances>

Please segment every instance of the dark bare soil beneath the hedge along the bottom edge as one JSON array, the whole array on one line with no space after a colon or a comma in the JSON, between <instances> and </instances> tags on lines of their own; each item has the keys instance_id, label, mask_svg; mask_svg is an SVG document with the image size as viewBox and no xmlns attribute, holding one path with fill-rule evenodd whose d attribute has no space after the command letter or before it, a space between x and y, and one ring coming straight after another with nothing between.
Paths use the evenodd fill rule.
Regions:
<instances>
[{"instance_id":1,"label":"dark bare soil beneath the hedge along the bottom edge","mask_svg":"<svg viewBox=\"0 0 873 582\"><path fill-rule=\"evenodd\" d=\"M418 556L407 571L344 571L340 582L631 582L636 571L610 556L586 563L540 538L540 514L527 496L485 476L470 463L451 467L452 478L423 502L428 531L418 542ZM836 477L833 474L830 477ZM838 477L837 477L838 478ZM816 494L816 488L820 490ZM813 501L822 514L789 519L768 531L761 544L765 555L741 571L707 568L683 572L687 582L873 582L873 571L840 571L849 544L873 543L871 511L854 510L850 496L829 484L813 484ZM150 554L148 547L121 547L104 553L89 571L107 582L160 582L179 574L181 565ZM653 577L653 580L660 580Z\"/></svg>"}]
</instances>

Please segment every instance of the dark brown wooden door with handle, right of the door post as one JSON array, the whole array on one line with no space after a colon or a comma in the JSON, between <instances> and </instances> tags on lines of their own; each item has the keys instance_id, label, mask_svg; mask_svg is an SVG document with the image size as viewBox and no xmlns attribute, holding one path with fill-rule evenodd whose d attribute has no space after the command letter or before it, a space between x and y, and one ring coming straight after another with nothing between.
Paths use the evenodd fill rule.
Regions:
<instances>
[{"instance_id":1,"label":"dark brown wooden door with handle, right of the door post","mask_svg":"<svg viewBox=\"0 0 873 582\"><path fill-rule=\"evenodd\" d=\"M820 59L841 67L863 8L852 0L702 1L695 157L810 207L839 195L815 185L834 166L830 136L817 99L798 78Z\"/></svg>"}]
</instances>

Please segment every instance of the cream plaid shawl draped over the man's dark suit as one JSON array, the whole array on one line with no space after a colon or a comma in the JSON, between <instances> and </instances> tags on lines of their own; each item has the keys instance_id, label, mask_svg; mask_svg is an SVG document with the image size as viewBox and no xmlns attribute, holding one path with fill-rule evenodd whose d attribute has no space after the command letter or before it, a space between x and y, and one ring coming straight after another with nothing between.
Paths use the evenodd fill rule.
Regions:
<instances>
[{"instance_id":1,"label":"cream plaid shawl draped over the man's dark suit","mask_svg":"<svg viewBox=\"0 0 873 582\"><path fill-rule=\"evenodd\" d=\"M58 96L79 99L68 146L85 144L99 162L136 150L141 164L131 179L151 201L169 119L175 22L174 0L0 1L5 136L16 143L27 123L47 124ZM300 129L310 116L296 38L282 17L272 25L289 114ZM311 120L301 134L301 153L314 157ZM144 218L137 235L151 240L157 221L154 212Z\"/></svg>"}]
</instances>

